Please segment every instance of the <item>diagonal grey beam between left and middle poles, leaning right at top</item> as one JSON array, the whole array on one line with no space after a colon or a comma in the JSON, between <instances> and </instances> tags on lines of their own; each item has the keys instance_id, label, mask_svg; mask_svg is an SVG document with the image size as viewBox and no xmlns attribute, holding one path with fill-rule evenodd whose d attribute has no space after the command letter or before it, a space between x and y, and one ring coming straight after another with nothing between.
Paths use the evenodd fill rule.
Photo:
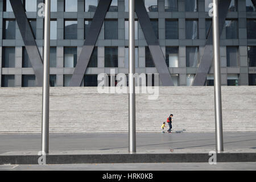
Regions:
<instances>
[{"instance_id":1,"label":"diagonal grey beam between left and middle poles, leaning right at top","mask_svg":"<svg viewBox=\"0 0 256 182\"><path fill-rule=\"evenodd\" d=\"M112 0L100 0L69 86L80 86Z\"/></svg>"}]
</instances>

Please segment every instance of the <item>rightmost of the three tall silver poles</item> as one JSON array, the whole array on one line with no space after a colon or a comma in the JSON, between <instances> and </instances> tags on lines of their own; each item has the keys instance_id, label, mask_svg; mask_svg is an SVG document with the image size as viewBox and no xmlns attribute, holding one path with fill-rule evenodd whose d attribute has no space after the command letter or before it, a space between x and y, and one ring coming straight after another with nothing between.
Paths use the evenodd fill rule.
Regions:
<instances>
[{"instance_id":1,"label":"rightmost of the three tall silver poles","mask_svg":"<svg viewBox=\"0 0 256 182\"><path fill-rule=\"evenodd\" d=\"M214 111L216 151L223 152L221 73L220 73L220 35L218 31L218 0L213 0L213 52L214 52Z\"/></svg>"}]
</instances>

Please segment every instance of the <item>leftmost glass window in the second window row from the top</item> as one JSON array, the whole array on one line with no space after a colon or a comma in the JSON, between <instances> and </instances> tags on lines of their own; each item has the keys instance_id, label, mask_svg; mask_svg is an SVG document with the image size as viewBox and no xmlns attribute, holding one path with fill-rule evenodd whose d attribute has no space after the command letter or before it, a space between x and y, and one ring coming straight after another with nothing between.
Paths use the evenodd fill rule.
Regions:
<instances>
[{"instance_id":1,"label":"leftmost glass window in the second window row from the top","mask_svg":"<svg viewBox=\"0 0 256 182\"><path fill-rule=\"evenodd\" d=\"M3 39L15 39L15 20L3 20Z\"/></svg>"}]
</instances>

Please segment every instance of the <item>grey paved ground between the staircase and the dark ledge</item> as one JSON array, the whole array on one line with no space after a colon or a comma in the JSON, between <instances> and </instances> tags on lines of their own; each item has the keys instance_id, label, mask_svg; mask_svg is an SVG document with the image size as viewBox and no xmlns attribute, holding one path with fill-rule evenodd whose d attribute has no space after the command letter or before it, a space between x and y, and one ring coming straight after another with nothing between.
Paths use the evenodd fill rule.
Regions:
<instances>
[{"instance_id":1,"label":"grey paved ground between the staircase and the dark ledge","mask_svg":"<svg viewBox=\"0 0 256 182\"><path fill-rule=\"evenodd\" d=\"M51 151L126 150L127 134L50 134ZM0 154L9 151L40 151L40 134L0 135ZM224 133L226 150L253 149L256 133ZM215 150L214 133L141 133L137 134L138 150L205 149Z\"/></svg>"}]
</instances>

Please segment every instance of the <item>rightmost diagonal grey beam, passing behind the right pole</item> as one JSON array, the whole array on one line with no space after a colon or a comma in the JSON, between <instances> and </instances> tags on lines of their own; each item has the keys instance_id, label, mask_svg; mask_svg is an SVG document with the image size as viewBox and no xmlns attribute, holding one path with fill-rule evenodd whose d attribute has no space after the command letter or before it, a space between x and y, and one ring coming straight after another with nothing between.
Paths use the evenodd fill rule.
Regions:
<instances>
[{"instance_id":1,"label":"rightmost diagonal grey beam, passing behind the right pole","mask_svg":"<svg viewBox=\"0 0 256 182\"><path fill-rule=\"evenodd\" d=\"M220 0L219 1L219 31L220 35L225 25L226 15L228 14L231 0ZM204 86L207 80L207 75L213 61L213 46L212 46L212 27L210 28L208 39L204 48L204 55L200 59L199 67L197 68L196 76L193 80L193 86Z\"/></svg>"}]
</instances>

